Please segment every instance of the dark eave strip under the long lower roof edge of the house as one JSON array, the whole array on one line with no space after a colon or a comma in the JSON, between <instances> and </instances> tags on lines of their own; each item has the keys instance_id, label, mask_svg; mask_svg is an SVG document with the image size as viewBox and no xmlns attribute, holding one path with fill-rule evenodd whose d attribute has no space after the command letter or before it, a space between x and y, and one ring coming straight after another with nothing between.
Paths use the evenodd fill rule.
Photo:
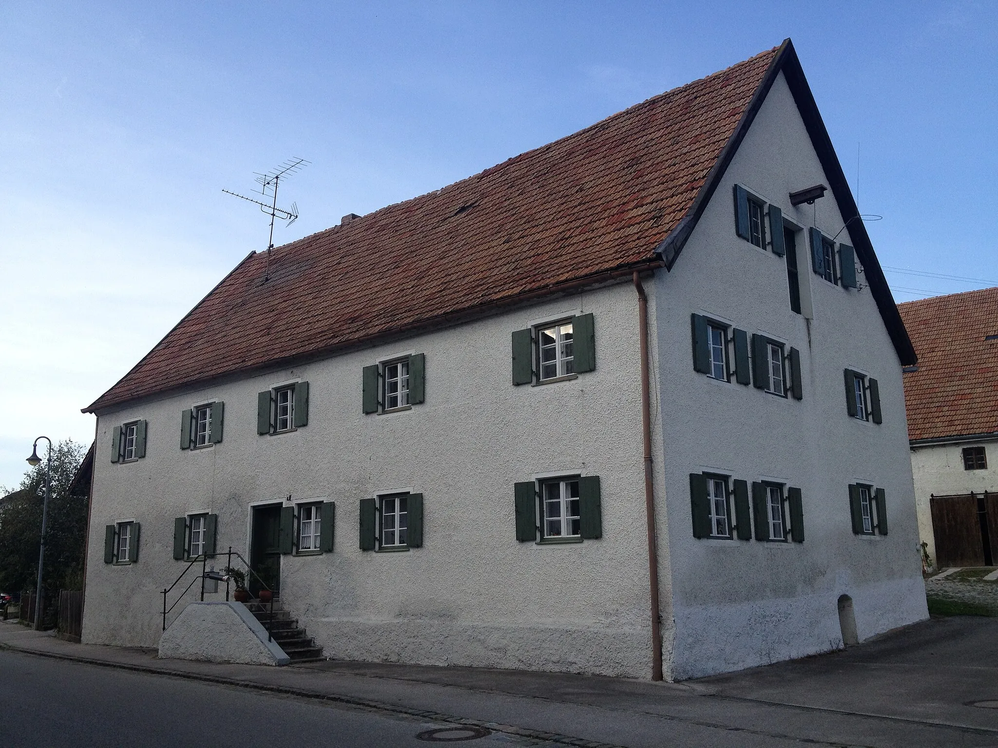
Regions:
<instances>
[{"instance_id":1,"label":"dark eave strip under the long lower roof edge of the house","mask_svg":"<svg viewBox=\"0 0 998 748\"><path fill-rule=\"evenodd\" d=\"M250 254L252 254L252 252L250 252ZM240 264L242 264L242 262ZM359 340L351 340L348 343L329 346L328 348L322 348L316 351L309 351L306 354L288 356L287 358L281 358L281 359L273 359L267 361L264 364L260 364L259 366L253 366L246 369L238 369L236 371L226 372L225 374L221 374L215 377L209 377L206 379L193 379L184 382L184 384L178 385L177 387L172 387L169 390L159 390L157 392L149 393L148 395L127 398L125 400L118 400L113 403L109 403L107 406L102 406L100 408L101 411L100 413L98 413L98 411L94 409L93 405L88 406L83 412L96 413L97 415L101 415L102 413L108 411L114 411L118 406L125 405L126 403L131 404L143 400L161 400L166 397L171 397L178 392L183 392L185 390L197 389L199 387L208 386L210 383L233 381L236 379L242 379L243 377L253 376L255 374L264 371L271 371L273 369L280 369L288 366L309 363L312 361L320 361L322 359L341 355L349 351L359 350L362 348L369 348L372 345L379 345L381 343L387 343L392 340L407 337L409 335L418 335L420 333L430 332L432 330L440 329L442 327L452 327L454 325L462 324L464 322L471 322L476 319L483 319L485 317L497 314L502 311L506 311L519 306L525 306L540 299L563 296L567 293L575 293L579 291L586 291L595 288L602 288L605 286L614 285L616 283L620 283L625 280L631 280L636 270L640 273L646 273L646 272L653 272L664 266L665 262L663 262L661 259L658 258L631 263L628 265L623 265L614 270L607 270L593 275L587 275L583 278L576 278L575 280L569 280L564 283L547 286L546 288L540 288L535 291L530 291L529 293L518 293L512 296L508 296L504 299L499 299L498 301L492 301L488 304L472 307L471 309L461 309L459 311L451 312L449 314L442 314L437 317L431 317L430 319L420 320L419 322L415 322L405 327L398 327L388 332L371 335L366 338L360 338ZM233 270L233 272L235 272L235 270ZM231 274L232 273L230 273L230 275ZM93 450L93 447L91 447L91 450Z\"/></svg>"}]
</instances>

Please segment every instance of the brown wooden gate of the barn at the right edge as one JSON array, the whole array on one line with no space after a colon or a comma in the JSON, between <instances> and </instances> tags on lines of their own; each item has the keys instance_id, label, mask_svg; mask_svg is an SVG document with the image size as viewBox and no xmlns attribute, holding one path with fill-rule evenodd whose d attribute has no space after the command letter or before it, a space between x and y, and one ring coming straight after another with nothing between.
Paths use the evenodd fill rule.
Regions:
<instances>
[{"instance_id":1,"label":"brown wooden gate of the barn at the right edge","mask_svg":"<svg viewBox=\"0 0 998 748\"><path fill-rule=\"evenodd\" d=\"M998 494L929 497L936 568L998 562Z\"/></svg>"}]
</instances>

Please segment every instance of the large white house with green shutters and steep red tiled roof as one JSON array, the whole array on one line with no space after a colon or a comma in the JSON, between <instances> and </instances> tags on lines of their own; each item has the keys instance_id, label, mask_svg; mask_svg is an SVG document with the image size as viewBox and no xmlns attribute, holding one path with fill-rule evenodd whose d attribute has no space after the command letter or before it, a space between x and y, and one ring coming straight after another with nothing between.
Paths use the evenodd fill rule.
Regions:
<instances>
[{"instance_id":1,"label":"large white house with green shutters and steep red tiled roof","mask_svg":"<svg viewBox=\"0 0 998 748\"><path fill-rule=\"evenodd\" d=\"M787 40L250 253L87 409L84 641L230 547L344 659L689 678L919 620L914 360Z\"/></svg>"}]
</instances>

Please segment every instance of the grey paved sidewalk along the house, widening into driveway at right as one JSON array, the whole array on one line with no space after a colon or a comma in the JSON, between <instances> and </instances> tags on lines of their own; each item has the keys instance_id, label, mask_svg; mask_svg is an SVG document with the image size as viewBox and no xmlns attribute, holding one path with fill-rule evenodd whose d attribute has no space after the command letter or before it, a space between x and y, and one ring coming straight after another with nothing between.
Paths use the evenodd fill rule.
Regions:
<instances>
[{"instance_id":1,"label":"grey paved sidewalk along the house, widening into driveway at right","mask_svg":"<svg viewBox=\"0 0 998 748\"><path fill-rule=\"evenodd\" d=\"M998 619L939 618L878 640L688 683L328 661L160 660L0 623L0 647L574 746L998 745Z\"/></svg>"}]
</instances>

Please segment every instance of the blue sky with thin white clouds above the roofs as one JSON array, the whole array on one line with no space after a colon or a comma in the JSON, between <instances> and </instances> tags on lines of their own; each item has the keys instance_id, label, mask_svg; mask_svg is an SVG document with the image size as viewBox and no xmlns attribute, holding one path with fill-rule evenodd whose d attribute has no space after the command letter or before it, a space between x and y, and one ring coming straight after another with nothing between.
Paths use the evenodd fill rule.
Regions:
<instances>
[{"instance_id":1,"label":"blue sky with thin white clouds above the roofs","mask_svg":"<svg viewBox=\"0 0 998 748\"><path fill-rule=\"evenodd\" d=\"M0 6L0 485L252 249L222 192L312 164L275 243L442 187L791 37L898 301L998 285L998 4ZM917 289L917 290L910 290Z\"/></svg>"}]
</instances>

